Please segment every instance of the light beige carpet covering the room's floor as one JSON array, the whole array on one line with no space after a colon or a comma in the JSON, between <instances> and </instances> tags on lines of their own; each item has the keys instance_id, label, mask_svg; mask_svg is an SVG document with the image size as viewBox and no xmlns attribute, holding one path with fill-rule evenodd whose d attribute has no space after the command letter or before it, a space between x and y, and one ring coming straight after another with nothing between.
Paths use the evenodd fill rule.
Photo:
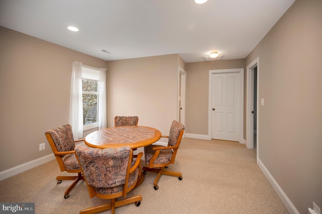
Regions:
<instances>
[{"instance_id":1,"label":"light beige carpet covering the room's floor","mask_svg":"<svg viewBox=\"0 0 322 214\"><path fill-rule=\"evenodd\" d=\"M140 149L138 151L141 151ZM142 159L142 166L144 162ZM141 205L117 207L116 213L288 213L273 187L256 164L256 151L243 144L218 140L182 140L176 162L183 180L162 175L153 189L156 173L128 196L142 195ZM35 202L36 213L79 213L106 200L90 198L85 181L64 191L72 181L56 184L56 160L0 181L1 202ZM110 210L101 213L111 213Z\"/></svg>"}]
</instances>

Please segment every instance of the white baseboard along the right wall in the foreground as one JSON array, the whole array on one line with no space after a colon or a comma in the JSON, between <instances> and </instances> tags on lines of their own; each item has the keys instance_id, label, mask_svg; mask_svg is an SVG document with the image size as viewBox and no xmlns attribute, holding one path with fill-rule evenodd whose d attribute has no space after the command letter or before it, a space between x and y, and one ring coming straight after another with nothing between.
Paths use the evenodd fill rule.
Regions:
<instances>
[{"instance_id":1,"label":"white baseboard along the right wall in the foreground","mask_svg":"<svg viewBox=\"0 0 322 214\"><path fill-rule=\"evenodd\" d=\"M259 158L257 158L257 164L259 165L259 167L263 171L263 173L266 176L266 178L268 179L268 181L273 186L275 192L280 197L281 201L284 203L284 205L287 208L287 210L289 211L289 213L299 214L299 212L297 211L297 209L295 208L293 203L290 201L290 199L287 197L287 195L284 193L282 188L278 185L276 180L273 178L271 173L267 170L267 168L264 166L263 162Z\"/></svg>"}]
</instances>

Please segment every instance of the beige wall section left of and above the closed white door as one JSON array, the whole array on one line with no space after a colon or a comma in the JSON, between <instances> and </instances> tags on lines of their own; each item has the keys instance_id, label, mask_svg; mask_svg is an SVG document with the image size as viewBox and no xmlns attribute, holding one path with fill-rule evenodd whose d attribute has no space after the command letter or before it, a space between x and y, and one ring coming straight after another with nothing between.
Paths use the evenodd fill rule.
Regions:
<instances>
[{"instance_id":1,"label":"beige wall section left of and above the closed white door","mask_svg":"<svg viewBox=\"0 0 322 214\"><path fill-rule=\"evenodd\" d=\"M208 135L209 70L244 67L245 59L186 63L186 133Z\"/></svg>"}]
</instances>

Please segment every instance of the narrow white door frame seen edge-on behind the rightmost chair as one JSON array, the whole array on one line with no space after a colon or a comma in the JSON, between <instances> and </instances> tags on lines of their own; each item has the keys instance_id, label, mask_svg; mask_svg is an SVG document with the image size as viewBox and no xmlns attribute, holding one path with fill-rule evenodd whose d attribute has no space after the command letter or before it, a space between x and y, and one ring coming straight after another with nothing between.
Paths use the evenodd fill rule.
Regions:
<instances>
[{"instance_id":1,"label":"narrow white door frame seen edge-on behind the rightmost chair","mask_svg":"<svg viewBox=\"0 0 322 214\"><path fill-rule=\"evenodd\" d=\"M187 72L179 66L178 73L178 112L177 120L186 126L186 74ZM182 108L182 110L180 109ZM183 133L185 137L185 132Z\"/></svg>"}]
</instances>

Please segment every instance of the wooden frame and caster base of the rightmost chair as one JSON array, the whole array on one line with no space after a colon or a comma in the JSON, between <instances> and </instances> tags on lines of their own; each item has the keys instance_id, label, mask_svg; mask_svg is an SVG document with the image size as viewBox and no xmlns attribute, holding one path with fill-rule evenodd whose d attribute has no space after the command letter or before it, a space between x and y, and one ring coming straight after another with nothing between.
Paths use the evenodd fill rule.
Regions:
<instances>
[{"instance_id":1,"label":"wooden frame and caster base of the rightmost chair","mask_svg":"<svg viewBox=\"0 0 322 214\"><path fill-rule=\"evenodd\" d=\"M143 173L144 174L146 174L146 171L156 172L157 173L156 178L155 178L154 183L153 183L153 186L154 186L155 190L157 190L159 188L158 185L157 185L157 182L158 182L158 180L159 180L159 178L161 177L162 174L171 175L171 176L177 176L179 178L179 180L182 180L181 172L168 171L168 170L165 170L165 168L168 168L168 166L170 164L175 163L176 155L177 155L179 145L181 143L181 139L182 139L184 131L185 130L183 130L183 129L180 131L180 134L179 134L179 137L178 137L178 140L177 140L177 143L176 143L175 146L169 146L169 143L168 143L167 147L164 147L164 146L162 146L162 147L153 147L153 150L155 150L155 153L152 156L152 158L150 159L149 165L146 166L146 167L143 167ZM169 138L169 136L166 136L166 135L163 135L161 137L162 138ZM173 150L173 155L171 157L170 162L167 162L167 163L164 163L164 164L153 164L155 159L159 155L160 151L165 150L165 149L172 149Z\"/></svg>"}]
</instances>

